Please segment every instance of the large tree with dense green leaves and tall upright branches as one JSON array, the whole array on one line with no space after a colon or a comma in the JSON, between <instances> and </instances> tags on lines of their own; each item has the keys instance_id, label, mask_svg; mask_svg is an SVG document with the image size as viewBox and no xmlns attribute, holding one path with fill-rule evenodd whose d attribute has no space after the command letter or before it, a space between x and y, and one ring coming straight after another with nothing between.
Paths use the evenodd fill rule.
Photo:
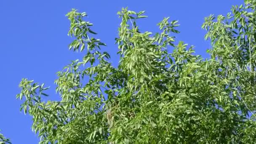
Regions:
<instances>
[{"instance_id":1,"label":"large tree with dense green leaves and tall upright branches","mask_svg":"<svg viewBox=\"0 0 256 144\"><path fill-rule=\"evenodd\" d=\"M73 51L87 51L58 72L61 101L41 101L44 85L23 79L17 98L33 117L41 144L252 143L256 141L256 0L227 16L205 18L209 59L175 44L178 21L164 18L160 33L141 32L144 11L123 8L113 67L106 46L92 37L86 13L73 9ZM90 38L91 37L91 38ZM170 52L169 50L172 50ZM84 83L84 80L87 80Z\"/></svg>"}]
</instances>

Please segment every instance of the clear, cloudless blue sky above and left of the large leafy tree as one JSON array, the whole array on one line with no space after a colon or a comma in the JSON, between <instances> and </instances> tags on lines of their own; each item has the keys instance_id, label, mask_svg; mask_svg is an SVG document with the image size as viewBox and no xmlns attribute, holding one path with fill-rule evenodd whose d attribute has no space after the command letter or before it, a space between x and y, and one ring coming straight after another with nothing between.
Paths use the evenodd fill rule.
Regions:
<instances>
[{"instance_id":1,"label":"clear, cloudless blue sky above and left of the large leafy tree","mask_svg":"<svg viewBox=\"0 0 256 144\"><path fill-rule=\"evenodd\" d=\"M69 51L67 36L69 21L65 14L72 8L88 13L88 21L94 24L97 37L117 64L117 27L120 19L117 11L127 7L133 11L146 11L142 19L143 31L157 31L156 24L163 17L179 20L181 33L176 40L195 45L197 54L206 57L209 42L204 41L201 29L204 17L224 14L232 5L243 0L0 0L0 129L13 144L37 144L39 139L31 131L29 115L19 112L21 78L51 86L50 99L55 94L56 72L80 59L81 54Z\"/></svg>"}]
</instances>

